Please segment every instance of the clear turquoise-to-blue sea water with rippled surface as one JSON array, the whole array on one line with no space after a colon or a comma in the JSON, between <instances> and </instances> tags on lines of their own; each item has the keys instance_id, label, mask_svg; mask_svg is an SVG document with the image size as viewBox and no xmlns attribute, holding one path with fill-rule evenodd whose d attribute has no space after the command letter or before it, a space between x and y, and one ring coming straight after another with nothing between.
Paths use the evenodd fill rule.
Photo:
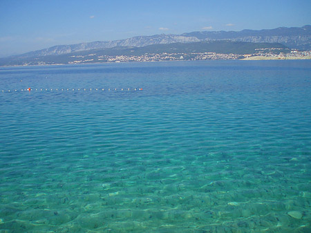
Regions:
<instances>
[{"instance_id":1,"label":"clear turquoise-to-blue sea water with rippled surface","mask_svg":"<svg viewBox=\"0 0 311 233\"><path fill-rule=\"evenodd\" d=\"M311 231L310 61L1 68L0 89L2 232Z\"/></svg>"}]
</instances>

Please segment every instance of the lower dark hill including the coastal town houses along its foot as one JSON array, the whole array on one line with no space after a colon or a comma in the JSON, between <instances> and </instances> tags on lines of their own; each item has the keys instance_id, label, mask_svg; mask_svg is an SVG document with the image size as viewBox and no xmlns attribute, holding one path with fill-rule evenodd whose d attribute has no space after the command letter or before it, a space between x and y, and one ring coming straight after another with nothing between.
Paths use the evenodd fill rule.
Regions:
<instances>
[{"instance_id":1,"label":"lower dark hill including the coastal town houses along its foot","mask_svg":"<svg viewBox=\"0 0 311 233\"><path fill-rule=\"evenodd\" d=\"M115 46L82 50L61 55L14 56L0 59L0 66L46 64L86 64L101 62L156 62L198 59L238 59L253 53L289 53L280 43L243 41L199 41L190 43L152 44L144 47Z\"/></svg>"}]
</instances>

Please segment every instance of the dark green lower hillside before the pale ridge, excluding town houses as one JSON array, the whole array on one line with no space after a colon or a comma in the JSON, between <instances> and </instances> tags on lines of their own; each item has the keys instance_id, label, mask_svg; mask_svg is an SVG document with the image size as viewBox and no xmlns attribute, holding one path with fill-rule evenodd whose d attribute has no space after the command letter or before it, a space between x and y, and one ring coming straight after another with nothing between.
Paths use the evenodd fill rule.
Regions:
<instances>
[{"instance_id":1,"label":"dark green lower hillside before the pale ridge, excluding town houses","mask_svg":"<svg viewBox=\"0 0 311 233\"><path fill-rule=\"evenodd\" d=\"M288 53L290 50L279 43L249 43L241 41L200 41L195 43L174 43L174 44L154 44L144 47L115 47L104 48L97 50L84 50L75 53L67 53L64 55L46 55L46 56L13 56L0 59L0 66L22 66L22 65L37 65L37 64L76 64L94 63L94 62L109 62L109 57L127 56L135 57L142 55L161 55L169 54L171 57L180 57L182 59L196 59L198 53L220 53L220 54L236 54L244 55L258 53L256 49L270 48L274 53ZM162 58L154 59L154 61L165 60Z\"/></svg>"}]
</instances>

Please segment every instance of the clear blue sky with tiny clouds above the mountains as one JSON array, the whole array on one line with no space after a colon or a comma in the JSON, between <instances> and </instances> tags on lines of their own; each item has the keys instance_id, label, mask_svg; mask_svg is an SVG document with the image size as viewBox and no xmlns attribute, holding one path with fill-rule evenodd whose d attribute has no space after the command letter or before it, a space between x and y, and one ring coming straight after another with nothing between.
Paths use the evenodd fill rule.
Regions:
<instances>
[{"instance_id":1,"label":"clear blue sky with tiny clouds above the mountains","mask_svg":"<svg viewBox=\"0 0 311 233\"><path fill-rule=\"evenodd\" d=\"M59 44L311 24L311 0L0 0L0 57Z\"/></svg>"}]
</instances>

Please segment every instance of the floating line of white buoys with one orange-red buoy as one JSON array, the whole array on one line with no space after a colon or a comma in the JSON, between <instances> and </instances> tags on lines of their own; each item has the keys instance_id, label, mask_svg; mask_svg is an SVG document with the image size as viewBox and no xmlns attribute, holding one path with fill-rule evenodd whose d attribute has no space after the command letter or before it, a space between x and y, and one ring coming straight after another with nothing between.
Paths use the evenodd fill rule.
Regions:
<instances>
[{"instance_id":1,"label":"floating line of white buoys with one orange-red buoy","mask_svg":"<svg viewBox=\"0 0 311 233\"><path fill-rule=\"evenodd\" d=\"M142 91L142 88L22 88L22 89L7 89L1 90L3 93L7 92L24 92L24 91Z\"/></svg>"}]
</instances>

